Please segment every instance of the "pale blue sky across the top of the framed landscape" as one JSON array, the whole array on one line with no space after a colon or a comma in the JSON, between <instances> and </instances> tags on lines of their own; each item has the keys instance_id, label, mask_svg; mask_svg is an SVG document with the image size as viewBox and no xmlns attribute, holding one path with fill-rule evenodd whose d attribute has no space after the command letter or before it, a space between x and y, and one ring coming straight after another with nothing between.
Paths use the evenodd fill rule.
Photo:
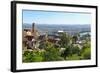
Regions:
<instances>
[{"instance_id":1,"label":"pale blue sky across the top of the framed landscape","mask_svg":"<svg viewBox=\"0 0 100 73\"><path fill-rule=\"evenodd\" d=\"M23 10L23 23L32 24L90 24L90 13Z\"/></svg>"}]
</instances>

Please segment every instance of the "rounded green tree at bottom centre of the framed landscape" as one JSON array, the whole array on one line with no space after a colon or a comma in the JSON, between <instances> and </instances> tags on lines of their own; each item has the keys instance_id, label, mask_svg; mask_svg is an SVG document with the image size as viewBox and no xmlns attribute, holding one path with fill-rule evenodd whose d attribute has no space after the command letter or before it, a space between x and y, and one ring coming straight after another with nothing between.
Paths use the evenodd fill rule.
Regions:
<instances>
[{"instance_id":1,"label":"rounded green tree at bottom centre of the framed landscape","mask_svg":"<svg viewBox=\"0 0 100 73\"><path fill-rule=\"evenodd\" d=\"M45 53L44 53L44 61L63 60L63 58L61 58L60 55L61 55L61 53L59 51L59 48L55 48L52 43L47 42L47 47L46 47Z\"/></svg>"}]
</instances>

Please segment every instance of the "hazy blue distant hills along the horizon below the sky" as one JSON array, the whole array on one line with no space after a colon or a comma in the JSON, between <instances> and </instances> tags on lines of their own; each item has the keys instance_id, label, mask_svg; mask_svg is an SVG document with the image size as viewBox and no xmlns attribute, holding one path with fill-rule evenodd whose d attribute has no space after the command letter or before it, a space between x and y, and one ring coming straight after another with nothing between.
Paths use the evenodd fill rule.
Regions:
<instances>
[{"instance_id":1,"label":"hazy blue distant hills along the horizon below the sky","mask_svg":"<svg viewBox=\"0 0 100 73\"><path fill-rule=\"evenodd\" d=\"M32 24L23 24L23 29L25 28L32 28ZM90 24L36 24L35 29L38 31L49 31L49 32L56 32L58 30L63 31L74 31L74 32L85 32L91 31Z\"/></svg>"}]
</instances>

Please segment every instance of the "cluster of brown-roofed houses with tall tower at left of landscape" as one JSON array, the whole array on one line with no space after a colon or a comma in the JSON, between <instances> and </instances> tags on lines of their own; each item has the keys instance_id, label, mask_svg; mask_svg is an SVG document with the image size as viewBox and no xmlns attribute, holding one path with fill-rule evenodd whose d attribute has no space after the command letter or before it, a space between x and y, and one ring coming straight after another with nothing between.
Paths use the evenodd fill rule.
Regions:
<instances>
[{"instance_id":1,"label":"cluster of brown-roofed houses with tall tower at left of landscape","mask_svg":"<svg viewBox=\"0 0 100 73\"><path fill-rule=\"evenodd\" d=\"M58 33L60 32L63 31L58 31ZM23 29L23 45L26 46L27 49L39 49L41 42L45 41L57 44L60 41L59 34L40 34L39 31L35 28L35 23L32 23L31 29Z\"/></svg>"}]
</instances>

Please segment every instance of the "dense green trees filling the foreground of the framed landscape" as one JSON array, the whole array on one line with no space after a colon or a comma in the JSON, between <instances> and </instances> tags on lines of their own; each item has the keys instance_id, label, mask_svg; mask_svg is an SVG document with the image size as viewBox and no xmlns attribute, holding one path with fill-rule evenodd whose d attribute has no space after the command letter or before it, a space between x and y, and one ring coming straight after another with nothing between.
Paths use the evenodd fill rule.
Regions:
<instances>
[{"instance_id":1,"label":"dense green trees filling the foreground of the framed landscape","mask_svg":"<svg viewBox=\"0 0 100 73\"><path fill-rule=\"evenodd\" d=\"M39 46L42 49L24 51L23 62L91 59L90 40L83 37L84 43L76 44L78 36L71 37L65 33L60 34L60 38L61 40L58 42L59 47L56 47L54 43L46 41ZM61 51L61 48L64 49Z\"/></svg>"}]
</instances>

